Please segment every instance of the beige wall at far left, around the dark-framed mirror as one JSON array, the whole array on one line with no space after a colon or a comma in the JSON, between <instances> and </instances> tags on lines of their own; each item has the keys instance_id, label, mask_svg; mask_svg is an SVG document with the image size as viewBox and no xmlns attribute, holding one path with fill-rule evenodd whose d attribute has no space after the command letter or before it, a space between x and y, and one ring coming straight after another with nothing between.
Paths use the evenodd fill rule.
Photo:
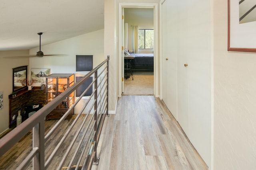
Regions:
<instances>
[{"instance_id":1,"label":"beige wall at far left, around the dark-framed mirror","mask_svg":"<svg viewBox=\"0 0 256 170\"><path fill-rule=\"evenodd\" d=\"M12 94L12 68L26 66L29 64L28 58L5 59L3 57L28 55L28 50L0 51L0 92L3 92L3 109L0 110L0 134L9 128L9 98Z\"/></svg>"}]
</instances>

